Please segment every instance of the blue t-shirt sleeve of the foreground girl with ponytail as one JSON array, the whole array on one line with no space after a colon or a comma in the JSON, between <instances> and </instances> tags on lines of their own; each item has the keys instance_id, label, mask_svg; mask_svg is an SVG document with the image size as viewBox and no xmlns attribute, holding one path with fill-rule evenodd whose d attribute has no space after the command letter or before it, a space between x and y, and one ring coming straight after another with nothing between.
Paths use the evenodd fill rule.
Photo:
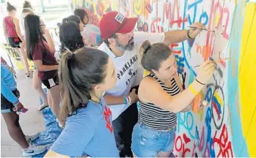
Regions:
<instances>
[{"instance_id":1,"label":"blue t-shirt sleeve of the foreground girl with ponytail","mask_svg":"<svg viewBox=\"0 0 256 158\"><path fill-rule=\"evenodd\" d=\"M81 157L94 133L92 120L83 116L69 123L51 146L51 150L70 157Z\"/></svg>"}]
</instances>

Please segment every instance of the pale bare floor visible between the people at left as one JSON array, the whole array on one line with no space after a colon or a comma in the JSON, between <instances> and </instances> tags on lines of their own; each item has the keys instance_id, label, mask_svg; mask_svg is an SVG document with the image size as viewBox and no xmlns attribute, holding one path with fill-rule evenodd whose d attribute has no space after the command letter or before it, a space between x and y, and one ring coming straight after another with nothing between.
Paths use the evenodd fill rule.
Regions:
<instances>
[{"instance_id":1,"label":"pale bare floor visible between the people at left","mask_svg":"<svg viewBox=\"0 0 256 158\"><path fill-rule=\"evenodd\" d=\"M25 71L17 71L17 85L21 92L20 101L29 110L21 113L20 124L25 135L42 132L45 129L42 112L37 111L40 104L37 91L32 88L32 78L26 78ZM1 117L1 157L22 157L21 147L15 143L7 130L4 119Z\"/></svg>"}]
</instances>

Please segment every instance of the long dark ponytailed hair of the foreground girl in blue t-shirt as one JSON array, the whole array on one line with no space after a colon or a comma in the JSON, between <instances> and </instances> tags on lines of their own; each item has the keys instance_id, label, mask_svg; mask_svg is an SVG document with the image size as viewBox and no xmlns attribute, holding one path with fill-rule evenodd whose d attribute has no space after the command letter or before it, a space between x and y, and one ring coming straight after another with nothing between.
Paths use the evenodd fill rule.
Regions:
<instances>
[{"instance_id":1,"label":"long dark ponytailed hair of the foreground girl in blue t-shirt","mask_svg":"<svg viewBox=\"0 0 256 158\"><path fill-rule=\"evenodd\" d=\"M92 48L81 48L74 53L67 51L62 55L59 69L62 119L87 106L93 86L106 78L108 62L106 53Z\"/></svg>"}]
</instances>

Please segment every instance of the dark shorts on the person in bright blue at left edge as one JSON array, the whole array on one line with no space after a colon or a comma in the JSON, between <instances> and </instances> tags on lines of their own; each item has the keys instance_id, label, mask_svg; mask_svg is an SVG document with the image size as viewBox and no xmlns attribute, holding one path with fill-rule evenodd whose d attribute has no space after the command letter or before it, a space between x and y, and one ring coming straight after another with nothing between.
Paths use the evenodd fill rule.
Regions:
<instances>
[{"instance_id":1,"label":"dark shorts on the person in bright blue at left edge","mask_svg":"<svg viewBox=\"0 0 256 158\"><path fill-rule=\"evenodd\" d=\"M18 91L18 89L15 89L12 93L15 94L16 97L20 97L20 91ZM13 111L12 108L14 108L12 102L9 102L9 100L1 94L1 113L10 113Z\"/></svg>"}]
</instances>

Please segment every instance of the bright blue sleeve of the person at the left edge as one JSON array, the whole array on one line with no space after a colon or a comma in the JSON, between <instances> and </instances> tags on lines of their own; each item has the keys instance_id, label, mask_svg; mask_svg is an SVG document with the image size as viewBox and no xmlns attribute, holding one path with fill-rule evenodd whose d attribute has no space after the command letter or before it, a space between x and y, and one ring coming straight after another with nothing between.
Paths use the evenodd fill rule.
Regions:
<instances>
[{"instance_id":1,"label":"bright blue sleeve of the person at the left edge","mask_svg":"<svg viewBox=\"0 0 256 158\"><path fill-rule=\"evenodd\" d=\"M1 72L3 72L4 69L1 67ZM16 104L18 102L18 97L15 96L15 94L12 93L10 88L5 83L4 79L1 75L1 94L9 101L12 102L12 104Z\"/></svg>"}]
</instances>

